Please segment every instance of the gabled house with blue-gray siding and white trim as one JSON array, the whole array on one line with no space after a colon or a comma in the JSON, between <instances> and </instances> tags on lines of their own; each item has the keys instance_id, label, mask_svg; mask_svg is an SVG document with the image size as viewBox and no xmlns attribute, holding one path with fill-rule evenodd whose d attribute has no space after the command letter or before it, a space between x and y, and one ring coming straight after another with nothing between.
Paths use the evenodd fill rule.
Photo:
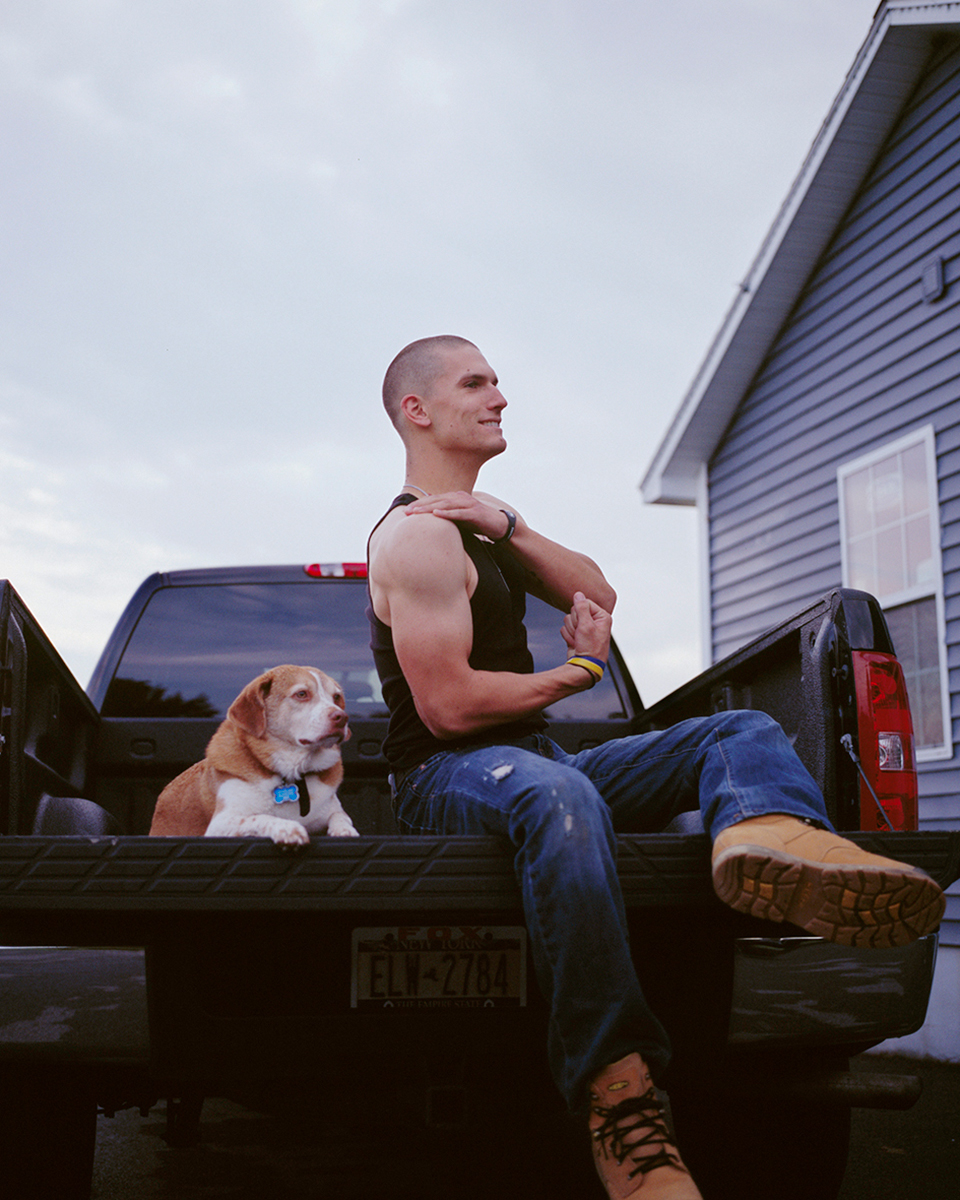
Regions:
<instances>
[{"instance_id":1,"label":"gabled house with blue-gray siding and white trim","mask_svg":"<svg viewBox=\"0 0 960 1200\"><path fill-rule=\"evenodd\" d=\"M695 504L718 661L878 598L920 828L960 828L960 4L887 0L642 484ZM960 1061L960 888L901 1050Z\"/></svg>"}]
</instances>

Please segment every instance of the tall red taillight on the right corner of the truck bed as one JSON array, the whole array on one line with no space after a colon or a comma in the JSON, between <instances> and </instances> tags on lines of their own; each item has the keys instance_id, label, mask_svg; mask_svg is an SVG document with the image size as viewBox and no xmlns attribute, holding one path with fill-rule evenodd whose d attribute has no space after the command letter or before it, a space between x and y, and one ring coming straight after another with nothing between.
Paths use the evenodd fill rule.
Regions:
<instances>
[{"instance_id":1,"label":"tall red taillight on the right corner of the truck bed","mask_svg":"<svg viewBox=\"0 0 960 1200\"><path fill-rule=\"evenodd\" d=\"M894 829L916 829L917 764L913 721L904 672L892 654L853 650L860 766L876 793L860 779L860 828L887 829L877 800Z\"/></svg>"}]
</instances>

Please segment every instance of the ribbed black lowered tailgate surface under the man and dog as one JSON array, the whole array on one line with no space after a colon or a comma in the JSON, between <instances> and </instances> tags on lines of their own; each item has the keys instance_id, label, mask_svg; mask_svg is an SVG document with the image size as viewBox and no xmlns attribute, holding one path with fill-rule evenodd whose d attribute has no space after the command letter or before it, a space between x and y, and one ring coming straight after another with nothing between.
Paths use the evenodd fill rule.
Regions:
<instances>
[{"instance_id":1,"label":"ribbed black lowered tailgate surface under the man and dog","mask_svg":"<svg viewBox=\"0 0 960 1200\"><path fill-rule=\"evenodd\" d=\"M920 866L942 887L960 877L960 830L846 836ZM719 904L706 836L629 834L618 845L628 907ZM0 839L0 937L19 944L36 941L44 928L58 930L59 942L103 944L98 938L104 929L116 932L119 918L126 918L125 930L139 926L146 935L163 913L451 907L520 908L503 842L320 838L289 852L262 839Z\"/></svg>"}]
</instances>

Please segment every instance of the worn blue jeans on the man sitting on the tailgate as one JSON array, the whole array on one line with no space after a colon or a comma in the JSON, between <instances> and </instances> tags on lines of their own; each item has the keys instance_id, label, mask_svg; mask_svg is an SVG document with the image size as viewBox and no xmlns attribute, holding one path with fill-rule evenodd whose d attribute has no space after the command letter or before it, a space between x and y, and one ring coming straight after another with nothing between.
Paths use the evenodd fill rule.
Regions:
<instances>
[{"instance_id":1,"label":"worn blue jeans on the man sitting on the tailgate","mask_svg":"<svg viewBox=\"0 0 960 1200\"><path fill-rule=\"evenodd\" d=\"M542 734L444 751L397 788L403 833L498 834L514 847L550 1004L550 1064L574 1109L607 1063L638 1051L655 1078L670 1058L630 958L616 835L658 832L697 808L712 838L766 812L829 827L782 730L755 712L682 721L575 755Z\"/></svg>"}]
</instances>

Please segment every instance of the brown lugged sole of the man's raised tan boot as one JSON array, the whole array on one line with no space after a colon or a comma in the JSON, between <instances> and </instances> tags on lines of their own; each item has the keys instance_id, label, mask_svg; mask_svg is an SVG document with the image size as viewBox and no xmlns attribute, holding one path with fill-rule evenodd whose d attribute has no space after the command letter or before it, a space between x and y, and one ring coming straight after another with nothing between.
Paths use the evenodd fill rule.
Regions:
<instances>
[{"instance_id":1,"label":"brown lugged sole of the man's raised tan boot","mask_svg":"<svg viewBox=\"0 0 960 1200\"><path fill-rule=\"evenodd\" d=\"M808 863L766 846L731 846L713 864L720 899L840 946L907 946L932 932L946 900L923 871Z\"/></svg>"}]
</instances>

